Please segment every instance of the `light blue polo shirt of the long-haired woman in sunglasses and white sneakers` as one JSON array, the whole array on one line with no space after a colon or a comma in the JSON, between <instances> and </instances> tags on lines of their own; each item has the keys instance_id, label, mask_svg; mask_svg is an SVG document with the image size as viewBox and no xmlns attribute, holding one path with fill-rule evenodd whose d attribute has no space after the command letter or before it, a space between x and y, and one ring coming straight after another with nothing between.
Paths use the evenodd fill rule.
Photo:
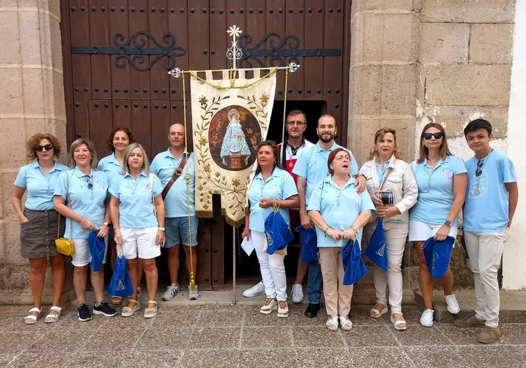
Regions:
<instances>
[{"instance_id":1,"label":"light blue polo shirt of the long-haired woman in sunglasses and white sneakers","mask_svg":"<svg viewBox=\"0 0 526 368\"><path fill-rule=\"evenodd\" d=\"M453 177L466 173L464 160L451 155L441 159L434 168L427 164L427 160L421 164L413 161L409 166L418 185L418 200L409 212L409 220L442 225L455 200ZM458 218L455 218L454 226L457 225Z\"/></svg>"}]
</instances>

